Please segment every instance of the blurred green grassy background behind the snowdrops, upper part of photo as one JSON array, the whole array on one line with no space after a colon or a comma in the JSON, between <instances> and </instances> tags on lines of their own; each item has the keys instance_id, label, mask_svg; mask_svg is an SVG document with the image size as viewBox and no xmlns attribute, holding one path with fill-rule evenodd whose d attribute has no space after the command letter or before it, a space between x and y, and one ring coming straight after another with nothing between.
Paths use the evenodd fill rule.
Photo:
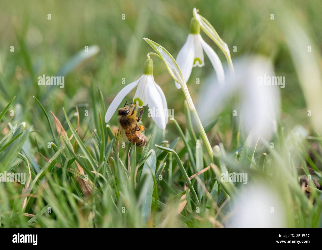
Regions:
<instances>
[{"instance_id":1,"label":"blurred green grassy background behind the snowdrops, upper part of photo","mask_svg":"<svg viewBox=\"0 0 322 250\"><path fill-rule=\"evenodd\" d=\"M288 10L303 25L321 51L322 2L316 1L0 1L0 103L16 96L16 122L26 121L41 131L46 123L33 96L46 110L62 116L62 107L91 106L90 84L98 85L108 107L118 91L142 74L146 54L152 49L143 37L164 46L174 57L189 33L192 9L196 7L225 41L232 59L261 54L271 58L276 75L286 77L281 89L282 120L308 126L306 102L298 83L279 20ZM278 5L277 5L278 4ZM274 14L274 20L270 14ZM47 15L51 14L51 20ZM125 14L125 20L122 19ZM201 32L226 65L223 53ZM99 52L65 75L65 88L37 85L37 77L55 76L70 67L70 60L85 46L98 45ZM10 52L14 46L14 52ZM237 46L237 52L233 52ZM316 52L316 51L315 51ZM321 58L321 57L319 57ZM184 123L182 91L176 90L164 64L154 60L154 77L166 94L168 107ZM319 61L321 68L321 60ZM194 68L190 79L203 80L213 72L205 57L203 68ZM187 83L194 100L200 85ZM135 90L126 99L132 100ZM83 111L81 111L83 112ZM223 112L223 130L230 123L229 108ZM105 111L104 111L105 113ZM17 113L16 113L17 114ZM182 117L181 117L182 116ZM150 120L150 119L149 119ZM146 122L149 122L146 118ZM116 125L117 117L110 121ZM170 124L170 127L172 125ZM169 126L168 126L169 127ZM171 133L171 129L170 132ZM50 140L50 134L41 138ZM48 138L46 138L48 137Z\"/></svg>"}]
</instances>

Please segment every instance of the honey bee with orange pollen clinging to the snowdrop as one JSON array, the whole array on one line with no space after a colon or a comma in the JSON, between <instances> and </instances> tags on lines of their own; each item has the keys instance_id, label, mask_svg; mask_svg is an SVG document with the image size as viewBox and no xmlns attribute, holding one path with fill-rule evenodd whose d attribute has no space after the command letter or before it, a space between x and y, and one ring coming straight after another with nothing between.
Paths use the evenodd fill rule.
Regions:
<instances>
[{"instance_id":1,"label":"honey bee with orange pollen clinging to the snowdrop","mask_svg":"<svg viewBox=\"0 0 322 250\"><path fill-rule=\"evenodd\" d=\"M127 103L125 102L125 105ZM129 103L132 104L132 103ZM118 124L120 125L118 134L120 130L125 132L125 136L128 138L131 144L136 144L137 146L143 147L147 145L147 137L141 132L147 130L143 125L138 125L137 123L141 120L143 115L144 106L141 108L139 116L137 117L137 103L131 106L125 106L118 109ZM132 107L133 110L132 110Z\"/></svg>"}]
</instances>

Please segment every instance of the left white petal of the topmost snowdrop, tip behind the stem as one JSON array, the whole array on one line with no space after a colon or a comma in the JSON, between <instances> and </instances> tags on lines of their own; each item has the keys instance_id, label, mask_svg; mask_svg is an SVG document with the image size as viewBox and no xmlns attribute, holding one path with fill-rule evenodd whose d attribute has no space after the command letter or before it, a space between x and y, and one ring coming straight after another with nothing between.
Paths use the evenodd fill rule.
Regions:
<instances>
[{"instance_id":1,"label":"left white petal of the topmost snowdrop, tip behind the stem","mask_svg":"<svg viewBox=\"0 0 322 250\"><path fill-rule=\"evenodd\" d=\"M178 63L179 68L187 82L190 75L192 66L194 64L194 35L189 34L187 41L181 48L176 58L176 62ZM181 88L180 84L175 81L175 87L178 89Z\"/></svg>"}]
</instances>

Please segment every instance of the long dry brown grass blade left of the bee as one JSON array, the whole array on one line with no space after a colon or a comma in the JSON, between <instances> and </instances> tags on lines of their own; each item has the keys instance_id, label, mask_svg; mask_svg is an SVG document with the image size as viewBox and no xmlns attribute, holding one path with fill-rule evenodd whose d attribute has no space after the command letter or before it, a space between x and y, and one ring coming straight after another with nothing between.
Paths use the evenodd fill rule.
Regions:
<instances>
[{"instance_id":1,"label":"long dry brown grass blade left of the bee","mask_svg":"<svg viewBox=\"0 0 322 250\"><path fill-rule=\"evenodd\" d=\"M52 113L52 111L50 111L50 113L52 114L53 118L54 118L54 122L55 122L55 125L56 125L56 129L57 129L57 133L58 135L60 133L61 134L61 142L62 144L64 144L64 139L65 141L68 142L68 145L70 146L71 150L74 152L74 148L71 144L71 142L69 141L69 138L68 138L68 135L65 131L65 129L63 128L61 122L58 120L58 118ZM63 139L63 138L64 139ZM84 169L81 167L81 165L76 161L75 162L76 165L77 165L77 168L78 168L78 171L81 173L81 175L85 175L84 174ZM76 177L76 180L77 182L79 183L80 187L81 187L81 190L83 191L83 194L88 197L92 194L92 188L90 187L90 185L87 183L87 181L81 179L80 177Z\"/></svg>"}]
</instances>

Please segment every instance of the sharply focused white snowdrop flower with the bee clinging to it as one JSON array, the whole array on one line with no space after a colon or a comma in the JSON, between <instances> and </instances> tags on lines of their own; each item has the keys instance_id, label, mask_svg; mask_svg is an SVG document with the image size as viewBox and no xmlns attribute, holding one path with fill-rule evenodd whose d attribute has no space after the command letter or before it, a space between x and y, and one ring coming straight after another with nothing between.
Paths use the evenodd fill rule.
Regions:
<instances>
[{"instance_id":1,"label":"sharply focused white snowdrop flower with the bee clinging to it","mask_svg":"<svg viewBox=\"0 0 322 250\"><path fill-rule=\"evenodd\" d=\"M165 116L167 110L166 97L160 86L154 81L152 74L153 61L148 58L144 63L143 75L135 82L125 86L109 105L105 115L106 123L109 122L124 97L137 86L133 103L136 102L138 107L147 105L156 125L161 129L166 129L168 123L168 117ZM156 112L152 114L152 110Z\"/></svg>"}]
</instances>

